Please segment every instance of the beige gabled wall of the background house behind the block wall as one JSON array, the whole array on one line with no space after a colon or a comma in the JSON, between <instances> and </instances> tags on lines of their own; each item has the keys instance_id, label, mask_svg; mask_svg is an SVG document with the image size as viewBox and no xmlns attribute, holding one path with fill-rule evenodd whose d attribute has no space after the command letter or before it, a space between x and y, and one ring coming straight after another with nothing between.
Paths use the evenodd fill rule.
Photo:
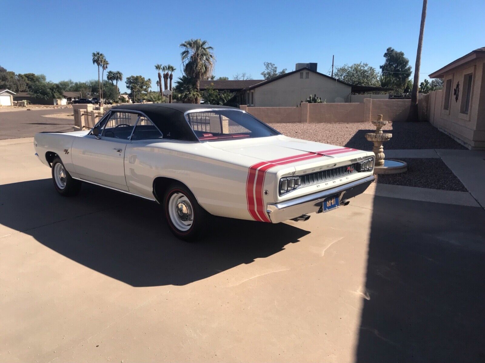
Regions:
<instances>
[{"instance_id":1,"label":"beige gabled wall of the background house behind the block wall","mask_svg":"<svg viewBox=\"0 0 485 363\"><path fill-rule=\"evenodd\" d=\"M306 71L303 71L306 72ZM280 78L254 89L255 107L296 106L311 94L316 94L326 103L346 102L351 87L331 78L310 72L309 78L300 78L300 72Z\"/></svg>"}]
</instances>

